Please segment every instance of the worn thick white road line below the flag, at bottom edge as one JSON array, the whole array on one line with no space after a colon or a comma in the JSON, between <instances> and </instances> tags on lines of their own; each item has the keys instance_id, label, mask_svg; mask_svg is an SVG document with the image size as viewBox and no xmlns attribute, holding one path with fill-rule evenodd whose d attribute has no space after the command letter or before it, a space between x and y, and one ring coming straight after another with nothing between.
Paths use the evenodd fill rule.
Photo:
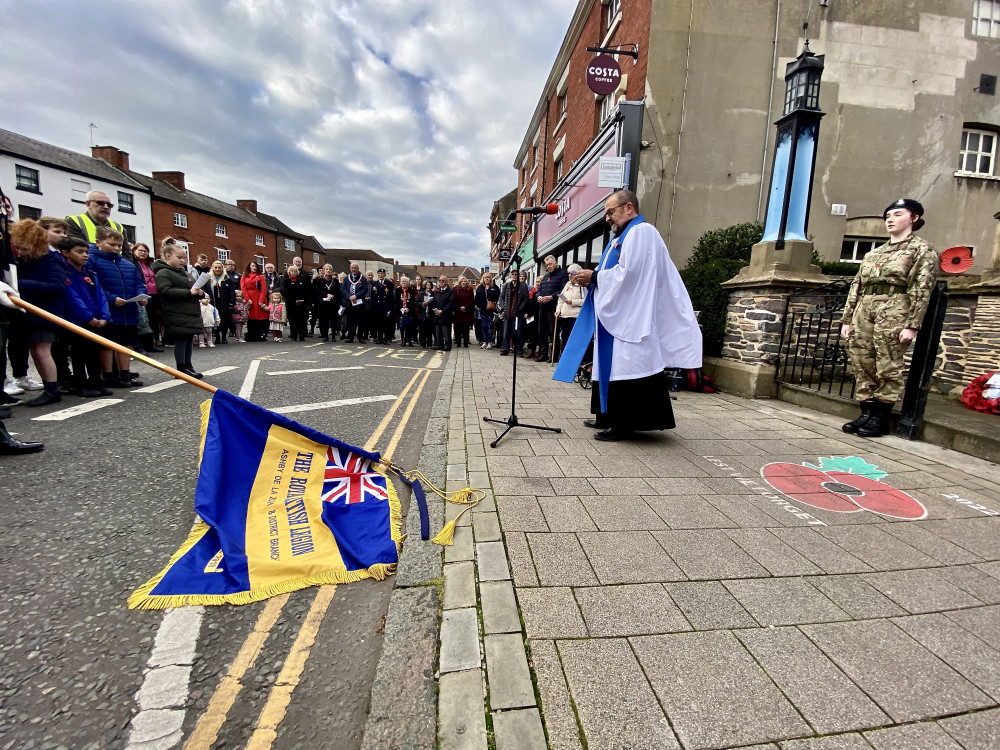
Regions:
<instances>
[{"instance_id":1,"label":"worn thick white road line below the flag, at bottom edge","mask_svg":"<svg viewBox=\"0 0 1000 750\"><path fill-rule=\"evenodd\" d=\"M184 706L204 607L168 609L156 631L132 717L126 750L165 750L180 744Z\"/></svg>"}]
</instances>

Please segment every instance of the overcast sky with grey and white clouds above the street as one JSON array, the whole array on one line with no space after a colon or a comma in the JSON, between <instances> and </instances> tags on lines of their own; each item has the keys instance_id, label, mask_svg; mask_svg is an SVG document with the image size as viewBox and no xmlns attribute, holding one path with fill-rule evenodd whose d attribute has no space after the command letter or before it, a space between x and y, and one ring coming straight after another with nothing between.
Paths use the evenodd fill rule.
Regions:
<instances>
[{"instance_id":1,"label":"overcast sky with grey and white clouds above the street","mask_svg":"<svg viewBox=\"0 0 1000 750\"><path fill-rule=\"evenodd\" d=\"M0 0L0 127L255 198L327 247L489 262L576 0Z\"/></svg>"}]
</instances>

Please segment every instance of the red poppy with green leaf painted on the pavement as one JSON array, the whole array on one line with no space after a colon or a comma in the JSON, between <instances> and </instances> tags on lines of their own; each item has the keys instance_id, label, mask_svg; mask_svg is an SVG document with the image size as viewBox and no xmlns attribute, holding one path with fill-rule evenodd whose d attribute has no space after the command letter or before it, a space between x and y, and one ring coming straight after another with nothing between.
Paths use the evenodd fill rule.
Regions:
<instances>
[{"instance_id":1,"label":"red poppy with green leaf painted on the pavement","mask_svg":"<svg viewBox=\"0 0 1000 750\"><path fill-rule=\"evenodd\" d=\"M863 510L903 521L927 517L914 497L879 481L886 472L858 456L821 458L808 463L770 463L760 470L764 481L793 500L834 513Z\"/></svg>"}]
</instances>

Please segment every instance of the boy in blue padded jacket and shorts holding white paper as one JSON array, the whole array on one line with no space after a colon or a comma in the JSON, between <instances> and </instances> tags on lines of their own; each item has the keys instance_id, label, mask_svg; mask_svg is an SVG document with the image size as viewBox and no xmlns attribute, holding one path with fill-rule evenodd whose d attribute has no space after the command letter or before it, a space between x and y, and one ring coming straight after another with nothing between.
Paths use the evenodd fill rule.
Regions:
<instances>
[{"instance_id":1,"label":"boy in blue padded jacket and shorts holding white paper","mask_svg":"<svg viewBox=\"0 0 1000 750\"><path fill-rule=\"evenodd\" d=\"M87 268L97 274L101 288L111 310L111 322L103 336L116 344L134 349L139 341L139 305L145 307L149 297L129 302L133 297L146 294L146 283L129 260L122 257L124 238L109 226L97 227L97 252L90 254ZM101 350L101 371L107 388L133 388L142 383L132 377L129 366L132 358L127 354ZM114 365L118 365L118 374Z\"/></svg>"}]
</instances>

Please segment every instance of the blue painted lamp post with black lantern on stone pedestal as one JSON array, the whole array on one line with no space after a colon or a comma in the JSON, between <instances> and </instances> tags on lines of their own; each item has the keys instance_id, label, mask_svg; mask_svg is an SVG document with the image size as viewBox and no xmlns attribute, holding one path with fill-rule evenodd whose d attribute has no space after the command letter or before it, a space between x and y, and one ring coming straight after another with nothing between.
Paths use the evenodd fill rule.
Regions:
<instances>
[{"instance_id":1,"label":"blue painted lamp post with black lantern on stone pedestal","mask_svg":"<svg viewBox=\"0 0 1000 750\"><path fill-rule=\"evenodd\" d=\"M816 168L819 121L819 85L823 76L823 55L814 55L806 40L802 54L785 69L785 108L775 137L771 188L767 197L763 242L773 242L775 250L785 240L805 241Z\"/></svg>"}]
</instances>

